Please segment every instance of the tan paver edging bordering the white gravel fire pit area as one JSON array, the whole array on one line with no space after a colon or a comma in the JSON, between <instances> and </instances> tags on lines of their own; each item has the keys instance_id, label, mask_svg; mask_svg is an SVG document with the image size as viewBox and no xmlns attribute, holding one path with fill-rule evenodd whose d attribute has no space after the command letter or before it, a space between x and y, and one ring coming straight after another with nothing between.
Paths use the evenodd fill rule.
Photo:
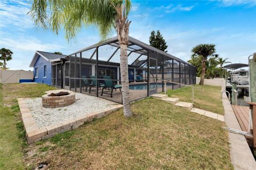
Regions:
<instances>
[{"instance_id":1,"label":"tan paver edging bordering the white gravel fire pit area","mask_svg":"<svg viewBox=\"0 0 256 170\"><path fill-rule=\"evenodd\" d=\"M31 115L23 98L18 98L18 104L20 107L21 119L26 130L26 137L28 143L37 142L40 140L54 137L58 133L63 133L82 126L84 122L90 122L93 118L101 118L108 115L111 112L117 111L122 108L123 105L113 105L112 108L103 109L102 111L92 112L81 117L71 118L69 120L47 126L45 128L38 128L36 121Z\"/></svg>"}]
</instances>

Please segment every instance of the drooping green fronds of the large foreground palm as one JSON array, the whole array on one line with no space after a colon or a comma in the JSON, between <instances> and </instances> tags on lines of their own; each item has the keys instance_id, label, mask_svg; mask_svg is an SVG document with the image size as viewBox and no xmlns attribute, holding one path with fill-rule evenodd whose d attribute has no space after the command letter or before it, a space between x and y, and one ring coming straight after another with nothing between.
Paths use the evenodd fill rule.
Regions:
<instances>
[{"instance_id":1,"label":"drooping green fronds of the large foreground palm","mask_svg":"<svg viewBox=\"0 0 256 170\"><path fill-rule=\"evenodd\" d=\"M82 28L94 25L100 32L101 39L106 39L120 17L118 9L125 3L125 18L130 12L130 0L34 0L29 14L37 27L51 29L59 33L63 28L68 40L75 38ZM122 15L122 13L121 13Z\"/></svg>"}]
</instances>

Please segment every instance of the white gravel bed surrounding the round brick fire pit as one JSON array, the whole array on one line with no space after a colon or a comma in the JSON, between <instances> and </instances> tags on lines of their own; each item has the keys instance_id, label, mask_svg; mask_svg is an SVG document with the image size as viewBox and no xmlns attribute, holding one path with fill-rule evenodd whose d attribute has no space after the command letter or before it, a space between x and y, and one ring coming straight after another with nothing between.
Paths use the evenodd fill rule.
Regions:
<instances>
[{"instance_id":1,"label":"white gravel bed surrounding the round brick fire pit","mask_svg":"<svg viewBox=\"0 0 256 170\"><path fill-rule=\"evenodd\" d=\"M39 128L86 115L87 113L111 108L115 103L98 97L76 93L76 102L58 108L42 107L42 98L24 99Z\"/></svg>"}]
</instances>

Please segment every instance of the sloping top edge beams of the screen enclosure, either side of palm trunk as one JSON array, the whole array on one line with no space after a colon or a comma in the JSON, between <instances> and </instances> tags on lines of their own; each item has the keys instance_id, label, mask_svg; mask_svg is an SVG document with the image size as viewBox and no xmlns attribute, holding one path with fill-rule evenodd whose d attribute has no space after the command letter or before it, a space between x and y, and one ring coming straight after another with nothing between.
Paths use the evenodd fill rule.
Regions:
<instances>
[{"instance_id":1,"label":"sloping top edge beams of the screen enclosure, either side of palm trunk","mask_svg":"<svg viewBox=\"0 0 256 170\"><path fill-rule=\"evenodd\" d=\"M133 44L133 45L140 46L140 47L145 48L145 49L152 50L152 51L154 51L154 52L157 52L158 54L162 54L162 55L164 55L164 56L171 57L172 59L174 59L174 60L176 60L176 61L179 61L179 62L182 62L182 63L186 63L186 64L188 64L188 65L191 65L191 64L189 64L189 63L187 63L187 62L181 60L181 59L178 58L178 57L175 57L175 56L173 56L173 55L171 55L171 54L165 53L165 52L163 52L162 50L159 50L159 49L157 49L157 48L155 48L155 47L152 47L152 46L150 46L150 45L148 45L148 44L146 44L146 43L143 43L142 41L140 41L140 40L138 40L138 39L135 39L135 38L133 38L133 37L130 37L130 36L129 36L129 43L130 43L130 44ZM68 56L71 56L71 55L74 55L74 54L77 54L77 53L80 53L80 52L84 52L85 50L89 50L89 49L92 49L92 48L95 48L95 47L107 45L107 44L108 44L108 45L111 45L111 46L119 47L118 37L115 36L115 37L109 38L109 39L107 39L107 40L105 40L105 41L101 41L101 42L99 42L99 43L97 43L97 44L94 44L94 45L92 45L92 46L83 48L83 49L79 50L78 52L69 54ZM137 51L136 53L143 53L143 52ZM193 66L193 65L191 65L191 66Z\"/></svg>"}]
</instances>

